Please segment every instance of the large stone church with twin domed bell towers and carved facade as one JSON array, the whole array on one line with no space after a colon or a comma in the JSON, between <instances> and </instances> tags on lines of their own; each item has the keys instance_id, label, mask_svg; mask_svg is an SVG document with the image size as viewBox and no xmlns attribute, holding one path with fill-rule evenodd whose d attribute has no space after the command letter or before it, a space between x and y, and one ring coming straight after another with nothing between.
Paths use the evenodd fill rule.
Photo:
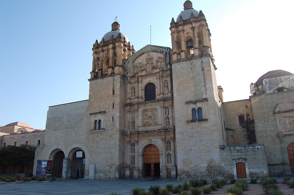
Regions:
<instances>
[{"instance_id":1,"label":"large stone church with twin domed bell towers and carved facade","mask_svg":"<svg viewBox=\"0 0 294 195\"><path fill-rule=\"evenodd\" d=\"M250 99L223 102L211 33L191 1L171 20L172 48L135 51L119 23L111 26L92 48L89 99L49 107L33 174L44 159L62 178L77 169L85 179L294 172L293 74L273 72L252 84ZM281 79L266 91L273 84L264 79L276 77L287 86Z\"/></svg>"}]
</instances>

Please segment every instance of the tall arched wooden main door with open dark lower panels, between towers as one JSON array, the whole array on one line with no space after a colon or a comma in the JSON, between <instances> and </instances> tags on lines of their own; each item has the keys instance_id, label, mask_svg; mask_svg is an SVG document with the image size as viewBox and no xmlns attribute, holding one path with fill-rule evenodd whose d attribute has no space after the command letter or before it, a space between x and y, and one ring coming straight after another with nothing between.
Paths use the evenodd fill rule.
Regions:
<instances>
[{"instance_id":1,"label":"tall arched wooden main door with open dark lower panels, between towers","mask_svg":"<svg viewBox=\"0 0 294 195\"><path fill-rule=\"evenodd\" d=\"M148 145L143 152L144 177L160 177L159 150L156 145Z\"/></svg>"}]
</instances>

